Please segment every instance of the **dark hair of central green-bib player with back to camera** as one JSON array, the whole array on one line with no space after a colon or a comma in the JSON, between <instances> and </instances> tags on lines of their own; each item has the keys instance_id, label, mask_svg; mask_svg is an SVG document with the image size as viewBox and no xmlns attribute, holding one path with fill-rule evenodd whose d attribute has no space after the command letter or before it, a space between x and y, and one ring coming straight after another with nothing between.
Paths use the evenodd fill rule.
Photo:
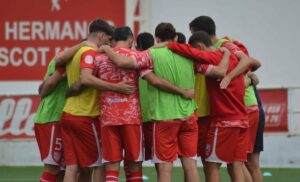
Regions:
<instances>
[{"instance_id":1,"label":"dark hair of central green-bib player with back to camera","mask_svg":"<svg viewBox=\"0 0 300 182\"><path fill-rule=\"evenodd\" d=\"M155 28L155 37L158 37L162 42L174 40L176 30L171 23L160 23Z\"/></svg>"}]
</instances>

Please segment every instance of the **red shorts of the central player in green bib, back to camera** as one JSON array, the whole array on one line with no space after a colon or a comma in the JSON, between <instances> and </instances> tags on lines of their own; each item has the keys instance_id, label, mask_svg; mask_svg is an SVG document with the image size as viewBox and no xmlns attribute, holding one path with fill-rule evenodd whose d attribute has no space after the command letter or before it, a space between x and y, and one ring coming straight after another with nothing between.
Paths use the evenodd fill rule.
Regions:
<instances>
[{"instance_id":1,"label":"red shorts of the central player in green bib, back to camera","mask_svg":"<svg viewBox=\"0 0 300 182\"><path fill-rule=\"evenodd\" d=\"M179 157L196 160L198 143L197 116L186 120L167 120L153 124L153 162L173 162Z\"/></svg>"}]
</instances>

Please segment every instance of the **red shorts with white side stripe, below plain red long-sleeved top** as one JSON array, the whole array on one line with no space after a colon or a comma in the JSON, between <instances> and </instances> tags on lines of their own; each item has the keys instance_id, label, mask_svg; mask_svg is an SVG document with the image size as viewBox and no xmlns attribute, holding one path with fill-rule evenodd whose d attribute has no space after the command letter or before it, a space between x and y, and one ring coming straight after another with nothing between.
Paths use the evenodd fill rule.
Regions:
<instances>
[{"instance_id":1,"label":"red shorts with white side stripe, below plain red long-sleeved top","mask_svg":"<svg viewBox=\"0 0 300 182\"><path fill-rule=\"evenodd\" d=\"M210 124L205 149L205 161L232 163L247 161L248 128L216 127Z\"/></svg>"}]
</instances>

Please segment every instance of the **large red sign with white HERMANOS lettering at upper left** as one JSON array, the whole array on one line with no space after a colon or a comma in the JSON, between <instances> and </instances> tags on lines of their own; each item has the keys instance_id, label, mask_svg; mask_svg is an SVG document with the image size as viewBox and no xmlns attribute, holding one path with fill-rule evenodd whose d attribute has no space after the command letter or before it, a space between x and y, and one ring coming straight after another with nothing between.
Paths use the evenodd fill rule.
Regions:
<instances>
[{"instance_id":1,"label":"large red sign with white HERMANOS lettering at upper left","mask_svg":"<svg viewBox=\"0 0 300 182\"><path fill-rule=\"evenodd\" d=\"M0 81L41 80L60 49L101 18L125 24L124 0L0 0Z\"/></svg>"}]
</instances>

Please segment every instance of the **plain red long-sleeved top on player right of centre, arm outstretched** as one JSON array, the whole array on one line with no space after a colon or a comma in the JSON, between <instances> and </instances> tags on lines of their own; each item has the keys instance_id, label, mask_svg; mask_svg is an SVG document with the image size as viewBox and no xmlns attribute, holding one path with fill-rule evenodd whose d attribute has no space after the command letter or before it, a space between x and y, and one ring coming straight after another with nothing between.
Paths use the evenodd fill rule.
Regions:
<instances>
[{"instance_id":1,"label":"plain red long-sleeved top on player right of centre, arm outstretched","mask_svg":"<svg viewBox=\"0 0 300 182\"><path fill-rule=\"evenodd\" d=\"M209 73L212 66L219 64L223 57L221 51L200 51L187 44L170 43L168 47L182 56L197 61L195 64L196 72L203 74ZM231 55L227 72L234 69L237 64L237 58ZM218 127L248 127L244 104L244 76L241 74L232 79L227 89L220 89L220 83L216 78L205 77L205 79L210 101L211 121L218 122Z\"/></svg>"}]
</instances>

